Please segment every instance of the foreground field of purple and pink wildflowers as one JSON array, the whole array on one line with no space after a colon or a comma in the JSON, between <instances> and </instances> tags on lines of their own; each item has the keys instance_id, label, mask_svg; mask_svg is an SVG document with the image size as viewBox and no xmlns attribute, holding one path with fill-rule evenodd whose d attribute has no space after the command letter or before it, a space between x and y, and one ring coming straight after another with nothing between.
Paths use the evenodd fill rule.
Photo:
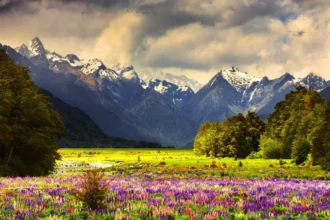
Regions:
<instances>
[{"instance_id":1,"label":"foreground field of purple and pink wildflowers","mask_svg":"<svg viewBox=\"0 0 330 220\"><path fill-rule=\"evenodd\" d=\"M71 195L80 178L0 179L0 219L330 219L329 181L115 173L93 212Z\"/></svg>"}]
</instances>

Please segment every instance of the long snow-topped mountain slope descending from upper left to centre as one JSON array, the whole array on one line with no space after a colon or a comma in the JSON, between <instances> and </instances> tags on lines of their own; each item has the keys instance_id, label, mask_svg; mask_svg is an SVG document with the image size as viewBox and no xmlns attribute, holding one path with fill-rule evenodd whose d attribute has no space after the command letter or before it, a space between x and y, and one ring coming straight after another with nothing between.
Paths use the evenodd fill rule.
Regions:
<instances>
[{"instance_id":1,"label":"long snow-topped mountain slope descending from upper left to centre","mask_svg":"<svg viewBox=\"0 0 330 220\"><path fill-rule=\"evenodd\" d=\"M16 51L2 48L30 69L37 86L83 110L108 135L185 146L198 131L198 124L172 101L146 89L133 66L113 69L99 59L62 56L45 49L38 38Z\"/></svg>"}]
</instances>

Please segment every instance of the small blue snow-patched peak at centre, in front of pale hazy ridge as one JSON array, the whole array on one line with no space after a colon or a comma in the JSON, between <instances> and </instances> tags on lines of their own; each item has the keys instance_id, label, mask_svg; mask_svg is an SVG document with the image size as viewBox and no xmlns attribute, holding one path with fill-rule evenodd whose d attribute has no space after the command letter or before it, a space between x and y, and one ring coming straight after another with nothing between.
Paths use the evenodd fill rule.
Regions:
<instances>
[{"instance_id":1,"label":"small blue snow-patched peak at centre, in front of pale hazy ridge","mask_svg":"<svg viewBox=\"0 0 330 220\"><path fill-rule=\"evenodd\" d=\"M166 80L151 79L148 87L162 94L178 107L187 104L195 95L194 91L186 85L176 85Z\"/></svg>"}]
</instances>

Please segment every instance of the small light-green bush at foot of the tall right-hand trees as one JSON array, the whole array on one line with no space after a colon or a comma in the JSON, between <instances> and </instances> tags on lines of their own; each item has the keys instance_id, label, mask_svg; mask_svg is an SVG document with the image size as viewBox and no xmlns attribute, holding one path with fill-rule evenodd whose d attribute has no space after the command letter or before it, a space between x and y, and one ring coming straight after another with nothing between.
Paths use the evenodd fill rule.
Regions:
<instances>
[{"instance_id":1,"label":"small light-green bush at foot of the tall right-hand trees","mask_svg":"<svg viewBox=\"0 0 330 220\"><path fill-rule=\"evenodd\" d=\"M280 143L270 137L261 136L260 149L263 152L263 158L280 159L281 146Z\"/></svg>"}]
</instances>

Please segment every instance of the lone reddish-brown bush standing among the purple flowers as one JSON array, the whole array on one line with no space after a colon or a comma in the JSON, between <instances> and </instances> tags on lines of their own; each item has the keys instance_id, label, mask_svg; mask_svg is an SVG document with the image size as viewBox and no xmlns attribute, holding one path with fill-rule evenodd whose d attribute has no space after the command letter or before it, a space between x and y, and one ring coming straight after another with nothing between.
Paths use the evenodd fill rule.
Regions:
<instances>
[{"instance_id":1,"label":"lone reddish-brown bush standing among the purple flowers","mask_svg":"<svg viewBox=\"0 0 330 220\"><path fill-rule=\"evenodd\" d=\"M74 190L73 195L92 210L105 208L104 201L108 193L108 182L104 181L104 177L102 169L85 171L82 175L81 190Z\"/></svg>"}]
</instances>

